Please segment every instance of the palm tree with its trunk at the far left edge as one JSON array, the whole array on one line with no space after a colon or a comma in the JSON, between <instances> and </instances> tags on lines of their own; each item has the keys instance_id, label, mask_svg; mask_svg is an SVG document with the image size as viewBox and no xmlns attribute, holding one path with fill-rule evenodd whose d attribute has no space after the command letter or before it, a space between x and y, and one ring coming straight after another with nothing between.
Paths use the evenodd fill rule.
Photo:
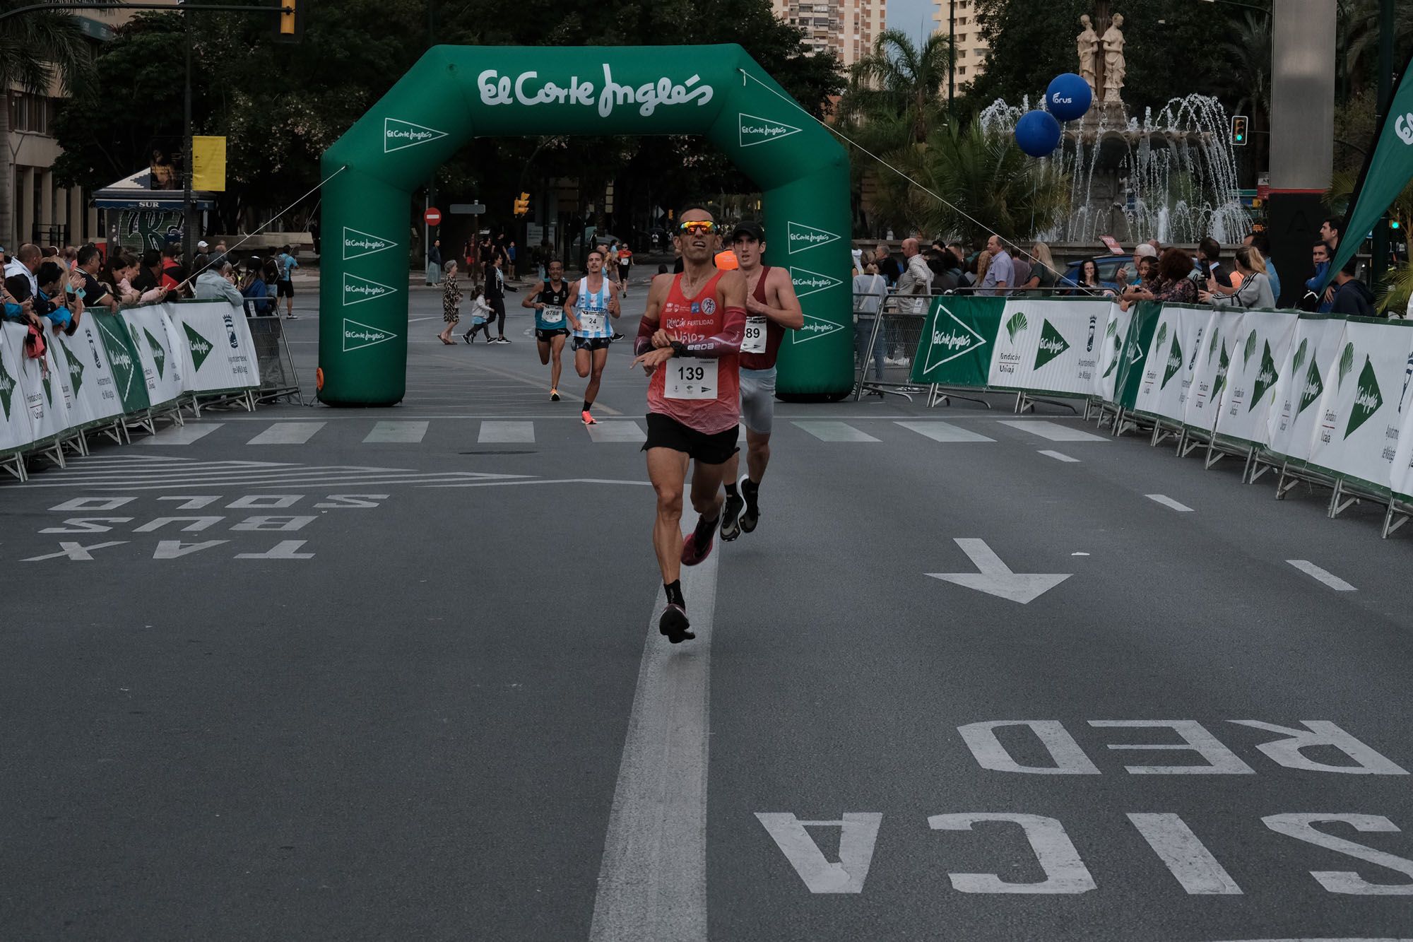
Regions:
<instances>
[{"instance_id":1,"label":"palm tree with its trunk at the far left edge","mask_svg":"<svg viewBox=\"0 0 1413 942\"><path fill-rule=\"evenodd\" d=\"M31 0L0 0L0 16ZM10 89L48 95L57 75L65 95L83 86L92 69L78 17L34 10L0 20L0 239L23 242L10 205L14 151L10 149Z\"/></svg>"}]
</instances>

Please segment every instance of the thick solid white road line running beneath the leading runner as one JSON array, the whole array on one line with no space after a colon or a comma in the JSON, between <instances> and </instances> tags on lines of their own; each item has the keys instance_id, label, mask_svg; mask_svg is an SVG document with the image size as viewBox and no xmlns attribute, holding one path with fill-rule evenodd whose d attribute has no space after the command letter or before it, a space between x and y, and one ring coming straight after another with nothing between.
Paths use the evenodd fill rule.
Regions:
<instances>
[{"instance_id":1,"label":"thick solid white road line running beneath the leading runner","mask_svg":"<svg viewBox=\"0 0 1413 942\"><path fill-rule=\"evenodd\" d=\"M649 614L591 942L706 939L708 680L719 559L718 550L682 567L695 641L671 645L658 634L661 588Z\"/></svg>"}]
</instances>

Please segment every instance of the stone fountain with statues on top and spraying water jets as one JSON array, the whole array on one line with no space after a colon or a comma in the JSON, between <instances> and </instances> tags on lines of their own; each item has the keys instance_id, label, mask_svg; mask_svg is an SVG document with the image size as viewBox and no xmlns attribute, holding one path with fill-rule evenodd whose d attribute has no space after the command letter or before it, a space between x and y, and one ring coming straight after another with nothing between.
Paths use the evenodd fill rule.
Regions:
<instances>
[{"instance_id":1,"label":"stone fountain with statues on top and spraying water jets","mask_svg":"<svg viewBox=\"0 0 1413 942\"><path fill-rule=\"evenodd\" d=\"M1123 103L1123 16L1080 17L1078 72L1094 91L1082 120L1064 127L1058 160L1070 177L1070 212L1050 232L1053 242L1096 242L1112 235L1125 245L1156 238L1194 243L1204 236L1239 242L1251 216L1236 187L1236 158L1226 109L1215 98L1173 99L1139 120ZM1098 33L1102 27L1104 33ZM988 132L1010 134L1030 109L996 100L981 113Z\"/></svg>"}]
</instances>

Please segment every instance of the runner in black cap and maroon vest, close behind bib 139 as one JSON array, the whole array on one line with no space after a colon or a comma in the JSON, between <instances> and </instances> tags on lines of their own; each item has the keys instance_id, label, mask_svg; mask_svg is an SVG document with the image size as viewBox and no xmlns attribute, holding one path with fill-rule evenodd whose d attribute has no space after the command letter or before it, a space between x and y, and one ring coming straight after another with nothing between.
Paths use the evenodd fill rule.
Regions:
<instances>
[{"instance_id":1,"label":"runner in black cap and maroon vest, close behind bib 139","mask_svg":"<svg viewBox=\"0 0 1413 942\"><path fill-rule=\"evenodd\" d=\"M766 231L746 221L731 233L731 248L746 279L746 338L740 342L740 419L746 424L746 477L736 492L740 458L726 463L726 506L721 539L733 540L760 521L760 479L770 464L770 430L776 417L776 356L786 330L804 327L804 311L786 269L762 264ZM745 498L745 499L742 499ZM745 513L742 511L745 509Z\"/></svg>"}]
</instances>

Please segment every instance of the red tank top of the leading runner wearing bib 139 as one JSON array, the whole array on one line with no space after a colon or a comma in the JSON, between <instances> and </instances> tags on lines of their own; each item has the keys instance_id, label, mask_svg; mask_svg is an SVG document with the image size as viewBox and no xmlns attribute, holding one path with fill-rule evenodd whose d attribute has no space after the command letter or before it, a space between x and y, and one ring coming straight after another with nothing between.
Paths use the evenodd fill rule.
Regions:
<instances>
[{"instance_id":1,"label":"red tank top of the leading runner wearing bib 139","mask_svg":"<svg viewBox=\"0 0 1413 942\"><path fill-rule=\"evenodd\" d=\"M682 294L682 276L673 276L673 287L663 301L663 311L658 324L668 334L680 337L682 342L704 341L708 337L721 334L726 325L726 307L721 303L716 290L722 272L716 272L697 293L688 298ZM677 399L666 395L667 371L691 369L706 365L711 369L715 364L716 388L712 399ZM716 359L695 356L673 356L653 371L653 379L647 386L649 412L656 412L688 429L695 429L704 434L726 431L740 421L740 356L728 354Z\"/></svg>"}]
</instances>

